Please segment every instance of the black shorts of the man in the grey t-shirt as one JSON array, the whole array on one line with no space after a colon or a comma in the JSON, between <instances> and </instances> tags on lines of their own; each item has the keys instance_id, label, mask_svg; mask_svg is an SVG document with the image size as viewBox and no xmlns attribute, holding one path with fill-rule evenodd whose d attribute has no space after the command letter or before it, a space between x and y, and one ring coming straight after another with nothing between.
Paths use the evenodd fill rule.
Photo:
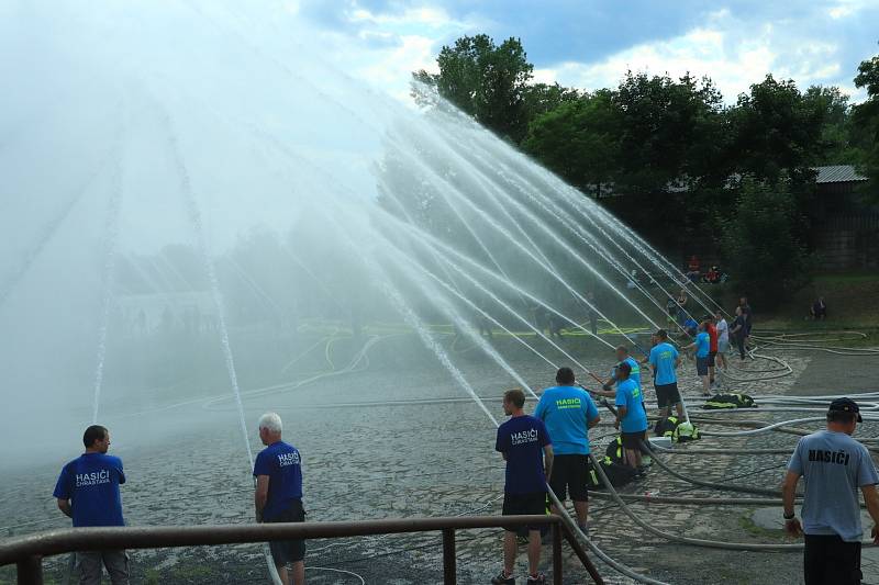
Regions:
<instances>
[{"instance_id":1,"label":"black shorts of the man in the grey t-shirt","mask_svg":"<svg viewBox=\"0 0 879 585\"><path fill-rule=\"evenodd\" d=\"M803 576L805 585L860 585L860 542L805 535Z\"/></svg>"}]
</instances>

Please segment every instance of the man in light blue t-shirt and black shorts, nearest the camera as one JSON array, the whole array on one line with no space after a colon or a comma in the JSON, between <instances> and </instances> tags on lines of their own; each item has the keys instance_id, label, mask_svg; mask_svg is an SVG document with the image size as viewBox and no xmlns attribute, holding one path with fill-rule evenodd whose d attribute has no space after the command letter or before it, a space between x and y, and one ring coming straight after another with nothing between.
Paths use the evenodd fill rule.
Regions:
<instances>
[{"instance_id":1,"label":"man in light blue t-shirt and black shorts, nearest the camera","mask_svg":"<svg viewBox=\"0 0 879 585\"><path fill-rule=\"evenodd\" d=\"M577 524L586 529L589 493L589 429L598 425L596 403L589 393L575 386L574 371L561 368L556 373L557 386L543 391L534 416L546 424L553 440L555 460L549 487L560 502L568 491L577 511ZM558 510L556 510L558 514Z\"/></svg>"}]
</instances>

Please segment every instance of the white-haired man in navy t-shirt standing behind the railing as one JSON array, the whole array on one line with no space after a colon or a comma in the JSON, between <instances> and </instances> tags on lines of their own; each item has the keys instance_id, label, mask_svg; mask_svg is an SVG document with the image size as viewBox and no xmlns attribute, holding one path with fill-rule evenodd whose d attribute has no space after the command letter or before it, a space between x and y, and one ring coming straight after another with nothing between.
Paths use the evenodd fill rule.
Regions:
<instances>
[{"instance_id":1,"label":"white-haired man in navy t-shirt standing behind the railing","mask_svg":"<svg viewBox=\"0 0 879 585\"><path fill-rule=\"evenodd\" d=\"M254 462L257 522L303 522L302 458L296 447L281 440L281 417L266 413L259 418L259 440L266 446ZM287 572L292 565L292 583L305 583L305 541L302 539L269 542L271 558L283 585L290 585Z\"/></svg>"}]
</instances>

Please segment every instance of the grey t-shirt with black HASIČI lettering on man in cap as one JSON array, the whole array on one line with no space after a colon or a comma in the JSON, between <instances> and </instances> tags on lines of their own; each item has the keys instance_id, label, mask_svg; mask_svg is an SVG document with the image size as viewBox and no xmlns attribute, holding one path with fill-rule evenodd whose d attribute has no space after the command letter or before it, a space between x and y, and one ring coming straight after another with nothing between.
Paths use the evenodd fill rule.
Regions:
<instances>
[{"instance_id":1,"label":"grey t-shirt with black HASI\u010cI lettering on man in cap","mask_svg":"<svg viewBox=\"0 0 879 585\"><path fill-rule=\"evenodd\" d=\"M845 432L820 430L800 439L788 470L805 480L803 532L859 542L858 488L879 483L867 448Z\"/></svg>"}]
</instances>

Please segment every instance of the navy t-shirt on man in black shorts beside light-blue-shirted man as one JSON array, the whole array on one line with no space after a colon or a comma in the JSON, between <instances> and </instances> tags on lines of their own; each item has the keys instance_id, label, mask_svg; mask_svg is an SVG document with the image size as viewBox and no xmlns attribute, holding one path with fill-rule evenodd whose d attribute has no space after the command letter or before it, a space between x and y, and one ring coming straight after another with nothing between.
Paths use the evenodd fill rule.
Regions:
<instances>
[{"instance_id":1,"label":"navy t-shirt on man in black shorts beside light-blue-shirted man","mask_svg":"<svg viewBox=\"0 0 879 585\"><path fill-rule=\"evenodd\" d=\"M533 416L514 416L498 427L494 450L507 453L508 494L546 492L543 448L552 445L546 426Z\"/></svg>"}]
</instances>

